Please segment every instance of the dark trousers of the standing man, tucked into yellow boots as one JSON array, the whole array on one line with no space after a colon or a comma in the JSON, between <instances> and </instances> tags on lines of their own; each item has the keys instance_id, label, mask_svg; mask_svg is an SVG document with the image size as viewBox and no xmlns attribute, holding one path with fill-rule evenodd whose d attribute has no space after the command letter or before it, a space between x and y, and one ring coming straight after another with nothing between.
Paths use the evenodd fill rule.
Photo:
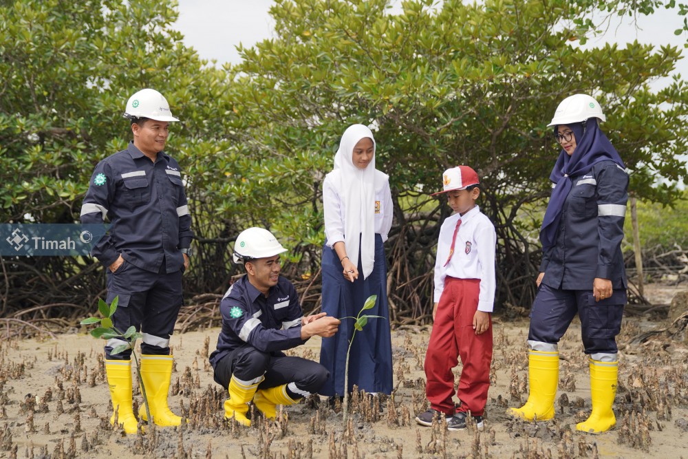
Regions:
<instances>
[{"instance_id":1,"label":"dark trousers of the standing man, tucked into yellow boots","mask_svg":"<svg viewBox=\"0 0 688 459\"><path fill-rule=\"evenodd\" d=\"M162 264L161 270L164 270ZM113 325L125 332L132 325L144 334L142 354L169 355L169 339L182 307L182 271L151 273L126 261L111 273L107 270L107 303L118 297ZM106 359L128 360L131 350L111 354L122 340L113 339L105 346Z\"/></svg>"}]
</instances>

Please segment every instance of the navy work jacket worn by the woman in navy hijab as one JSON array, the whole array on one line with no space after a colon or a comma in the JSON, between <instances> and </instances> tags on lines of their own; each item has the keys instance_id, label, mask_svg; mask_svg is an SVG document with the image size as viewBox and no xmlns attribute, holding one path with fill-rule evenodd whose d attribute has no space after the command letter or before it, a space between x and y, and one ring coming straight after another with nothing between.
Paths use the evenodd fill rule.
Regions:
<instances>
[{"instance_id":1,"label":"navy work jacket worn by the woman in navy hijab","mask_svg":"<svg viewBox=\"0 0 688 459\"><path fill-rule=\"evenodd\" d=\"M610 279L614 290L627 288L621 254L627 173L613 161L602 161L572 182L557 242L542 257L542 282L563 290L592 290L600 277Z\"/></svg>"}]
</instances>

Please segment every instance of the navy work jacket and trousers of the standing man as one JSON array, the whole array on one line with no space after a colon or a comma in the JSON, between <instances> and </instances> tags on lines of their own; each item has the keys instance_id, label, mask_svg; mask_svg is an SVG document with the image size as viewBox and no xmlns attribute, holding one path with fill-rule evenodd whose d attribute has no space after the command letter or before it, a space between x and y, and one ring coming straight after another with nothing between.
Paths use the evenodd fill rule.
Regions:
<instances>
[{"instance_id":1,"label":"navy work jacket and trousers of the standing man","mask_svg":"<svg viewBox=\"0 0 688 459\"><path fill-rule=\"evenodd\" d=\"M91 254L107 272L107 303L115 297L118 330L136 326L143 354L169 354L169 337L182 306L182 248L191 246L191 216L177 161L160 151L155 162L133 142L98 162L81 207L81 222L102 224L109 233ZM124 263L108 267L122 255ZM131 351L110 355L125 343L111 339L107 359L129 359Z\"/></svg>"}]
</instances>

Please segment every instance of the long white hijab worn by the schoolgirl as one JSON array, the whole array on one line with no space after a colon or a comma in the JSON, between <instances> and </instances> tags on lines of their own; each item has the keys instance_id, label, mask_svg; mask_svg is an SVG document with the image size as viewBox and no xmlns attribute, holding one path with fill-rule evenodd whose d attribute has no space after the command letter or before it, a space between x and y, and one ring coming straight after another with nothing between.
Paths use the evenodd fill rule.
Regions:
<instances>
[{"instance_id":1,"label":"long white hijab worn by the schoolgirl","mask_svg":"<svg viewBox=\"0 0 688 459\"><path fill-rule=\"evenodd\" d=\"M353 161L354 147L366 137L373 141L373 158L365 169L358 169ZM372 273L375 264L376 186L384 186L387 177L375 169L375 148L375 138L370 129L364 125L348 127L334 156L334 170L327 174L339 198L344 201L344 245L354 266L358 266L358 248L361 248L363 279Z\"/></svg>"}]
</instances>

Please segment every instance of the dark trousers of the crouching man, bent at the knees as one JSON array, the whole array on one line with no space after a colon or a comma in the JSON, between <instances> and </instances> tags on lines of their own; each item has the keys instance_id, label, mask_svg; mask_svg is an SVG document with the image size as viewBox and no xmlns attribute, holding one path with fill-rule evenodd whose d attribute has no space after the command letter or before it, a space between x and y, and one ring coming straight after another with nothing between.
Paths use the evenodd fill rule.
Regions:
<instances>
[{"instance_id":1,"label":"dark trousers of the crouching man, bent at the knees","mask_svg":"<svg viewBox=\"0 0 688 459\"><path fill-rule=\"evenodd\" d=\"M262 374L265 379L259 389L294 383L303 392L314 394L330 376L323 365L281 352L261 352L245 344L224 356L215 365L215 382L225 389L234 375L241 381L252 381Z\"/></svg>"}]
</instances>

